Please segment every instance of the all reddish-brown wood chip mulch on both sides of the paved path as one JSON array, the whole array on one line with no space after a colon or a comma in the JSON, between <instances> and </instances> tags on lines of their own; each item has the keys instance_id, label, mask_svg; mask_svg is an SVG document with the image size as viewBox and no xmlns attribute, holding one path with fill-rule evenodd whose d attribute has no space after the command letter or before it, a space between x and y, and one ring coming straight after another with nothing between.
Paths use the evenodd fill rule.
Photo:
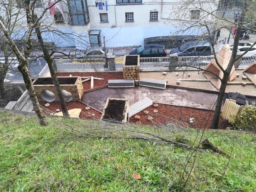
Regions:
<instances>
[{"instance_id":1,"label":"all reddish-brown wood chip mulch on both sides of the paved path","mask_svg":"<svg viewBox=\"0 0 256 192\"><path fill-rule=\"evenodd\" d=\"M58 77L69 77L69 75L72 75L73 77L75 76L80 76L80 77L98 77L98 78L104 78L104 80L94 80L94 88L106 85L108 84L109 79L123 79L123 73L122 72L92 72L92 73L57 73ZM83 80L83 79L82 79ZM90 81L84 82L83 83L83 89L88 90L90 89ZM45 106L47 102L41 102L40 104L42 106ZM61 107L59 102L50 102L50 106L47 107L47 110L44 110L45 113L55 113L56 109L60 109ZM85 110L87 105L82 104L80 102L66 102L67 104L67 109L71 110L74 108L80 108L82 109L80 113L80 118L85 118L85 119L100 119L102 113L98 112L97 110L94 110L90 108L89 112ZM153 112L153 110L156 109L158 110L157 114ZM144 110L149 111L148 115L144 114ZM192 108L187 108L187 107L179 107L179 106L170 106L170 105L165 105L165 104L159 104L157 108L154 108L154 104L152 106L147 107L143 111L135 114L140 116L140 122L141 124L147 124L147 125L154 125L154 123L160 124L160 123L168 123L169 121L172 121L177 124L183 123L184 125L187 125L189 127L193 127L193 125L196 128L210 128L210 124L212 121L212 117L214 112L207 111L207 110L200 110L200 109L192 109ZM49 112L51 111L51 112ZM95 117L92 117L92 113L95 114ZM137 120L135 120L135 115L130 117L129 122L131 123L136 123ZM147 118L148 116L153 117L153 122L149 121ZM193 125L190 125L187 123L190 118L194 117L194 123ZM187 121L183 121L183 120ZM181 122L178 123L177 121ZM220 121L219 121L219 127L218 129L226 129L228 126L228 121L224 120L220 116Z\"/></svg>"}]
</instances>

